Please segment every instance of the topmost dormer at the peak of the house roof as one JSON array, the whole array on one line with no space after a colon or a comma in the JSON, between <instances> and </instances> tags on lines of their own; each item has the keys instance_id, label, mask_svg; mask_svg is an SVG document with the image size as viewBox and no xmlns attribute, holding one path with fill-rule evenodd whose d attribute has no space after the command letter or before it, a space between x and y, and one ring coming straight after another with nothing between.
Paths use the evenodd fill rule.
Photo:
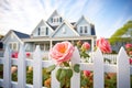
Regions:
<instances>
[{"instance_id":1,"label":"topmost dormer at the peak of the house roof","mask_svg":"<svg viewBox=\"0 0 132 88\"><path fill-rule=\"evenodd\" d=\"M52 26L57 26L63 23L63 18L55 10L52 15L47 19L47 23Z\"/></svg>"}]
</instances>

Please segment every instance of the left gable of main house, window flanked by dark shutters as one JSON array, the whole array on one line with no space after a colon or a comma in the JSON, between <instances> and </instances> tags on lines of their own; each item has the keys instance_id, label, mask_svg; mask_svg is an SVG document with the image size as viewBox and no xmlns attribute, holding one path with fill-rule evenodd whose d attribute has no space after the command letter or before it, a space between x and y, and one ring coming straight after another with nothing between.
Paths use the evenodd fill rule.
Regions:
<instances>
[{"instance_id":1,"label":"left gable of main house, window flanked by dark shutters","mask_svg":"<svg viewBox=\"0 0 132 88\"><path fill-rule=\"evenodd\" d=\"M53 32L53 29L42 20L32 32L32 36L50 36Z\"/></svg>"}]
</instances>

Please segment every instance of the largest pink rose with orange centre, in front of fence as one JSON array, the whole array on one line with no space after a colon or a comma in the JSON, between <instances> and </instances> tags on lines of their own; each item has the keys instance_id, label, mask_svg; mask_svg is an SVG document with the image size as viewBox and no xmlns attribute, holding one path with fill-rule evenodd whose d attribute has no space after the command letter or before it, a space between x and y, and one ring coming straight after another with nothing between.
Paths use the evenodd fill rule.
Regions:
<instances>
[{"instance_id":1,"label":"largest pink rose with orange centre, in front of fence","mask_svg":"<svg viewBox=\"0 0 132 88\"><path fill-rule=\"evenodd\" d=\"M72 58L74 50L75 47L70 42L57 43L52 50L50 50L50 57L59 65L63 62L68 62Z\"/></svg>"}]
</instances>

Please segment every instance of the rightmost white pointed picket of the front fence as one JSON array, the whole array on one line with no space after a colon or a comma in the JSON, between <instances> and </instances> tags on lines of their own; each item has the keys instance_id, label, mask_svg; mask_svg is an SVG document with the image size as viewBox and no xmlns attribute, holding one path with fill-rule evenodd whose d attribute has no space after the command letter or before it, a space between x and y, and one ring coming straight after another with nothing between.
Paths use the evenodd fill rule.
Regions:
<instances>
[{"instance_id":1,"label":"rightmost white pointed picket of the front fence","mask_svg":"<svg viewBox=\"0 0 132 88\"><path fill-rule=\"evenodd\" d=\"M118 88L130 88L130 63L123 47L117 57Z\"/></svg>"}]
</instances>

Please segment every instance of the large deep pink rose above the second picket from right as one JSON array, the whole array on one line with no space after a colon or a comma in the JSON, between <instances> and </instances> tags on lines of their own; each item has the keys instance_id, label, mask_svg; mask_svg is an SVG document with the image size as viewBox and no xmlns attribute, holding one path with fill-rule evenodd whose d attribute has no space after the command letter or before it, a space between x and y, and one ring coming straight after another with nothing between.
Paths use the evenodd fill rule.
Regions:
<instances>
[{"instance_id":1,"label":"large deep pink rose above the second picket from right","mask_svg":"<svg viewBox=\"0 0 132 88\"><path fill-rule=\"evenodd\" d=\"M103 37L97 40L96 43L97 47L101 50L102 53L111 53L111 46L110 43L105 40Z\"/></svg>"}]
</instances>

